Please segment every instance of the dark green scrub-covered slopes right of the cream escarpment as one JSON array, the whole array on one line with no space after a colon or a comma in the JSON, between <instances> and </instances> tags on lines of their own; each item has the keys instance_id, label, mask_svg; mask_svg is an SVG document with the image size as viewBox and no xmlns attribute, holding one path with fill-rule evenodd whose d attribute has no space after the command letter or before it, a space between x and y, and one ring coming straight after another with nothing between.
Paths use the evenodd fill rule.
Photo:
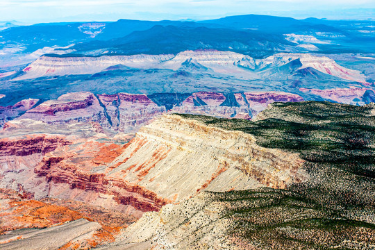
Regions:
<instances>
[{"instance_id":1,"label":"dark green scrub-covered slopes right of the cream escarpment","mask_svg":"<svg viewBox=\"0 0 375 250\"><path fill-rule=\"evenodd\" d=\"M181 115L300 153L310 178L288 190L215 193L231 234L260 249L375 249L374 105L274 103L260 120Z\"/></svg>"}]
</instances>

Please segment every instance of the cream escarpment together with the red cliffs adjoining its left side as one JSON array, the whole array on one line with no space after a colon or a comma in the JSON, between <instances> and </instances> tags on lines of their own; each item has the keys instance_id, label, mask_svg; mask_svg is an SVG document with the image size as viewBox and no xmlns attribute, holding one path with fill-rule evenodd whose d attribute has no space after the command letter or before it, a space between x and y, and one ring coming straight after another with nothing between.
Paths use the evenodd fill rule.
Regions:
<instances>
[{"instance_id":1,"label":"cream escarpment together with the red cliffs adjoining its left side","mask_svg":"<svg viewBox=\"0 0 375 250\"><path fill-rule=\"evenodd\" d=\"M12 149L3 148L3 188L16 185L38 199L111 204L139 215L203 190L285 188L308 177L295 154L264 149L250 135L176 115L144 126L124 146L104 138L46 140L50 137L15 138ZM30 158L26 165L24 157Z\"/></svg>"}]
</instances>

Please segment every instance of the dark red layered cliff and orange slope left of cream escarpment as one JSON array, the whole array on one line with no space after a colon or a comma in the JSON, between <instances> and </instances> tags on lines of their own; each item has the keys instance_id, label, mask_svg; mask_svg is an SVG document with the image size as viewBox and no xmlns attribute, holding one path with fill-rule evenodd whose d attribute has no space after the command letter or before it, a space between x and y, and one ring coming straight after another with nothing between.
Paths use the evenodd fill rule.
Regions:
<instances>
[{"instance_id":1,"label":"dark red layered cliff and orange slope left of cream escarpment","mask_svg":"<svg viewBox=\"0 0 375 250\"><path fill-rule=\"evenodd\" d=\"M92 169L110 163L119 156L125 147L117 144L86 142L81 153L66 152L64 156L47 154L35 167L38 177L45 177L47 183L66 183L71 190L94 191L113 195L120 204L130 205L140 211L156 211L168 201L155 193L121 178L106 176L105 172L94 173Z\"/></svg>"}]
</instances>

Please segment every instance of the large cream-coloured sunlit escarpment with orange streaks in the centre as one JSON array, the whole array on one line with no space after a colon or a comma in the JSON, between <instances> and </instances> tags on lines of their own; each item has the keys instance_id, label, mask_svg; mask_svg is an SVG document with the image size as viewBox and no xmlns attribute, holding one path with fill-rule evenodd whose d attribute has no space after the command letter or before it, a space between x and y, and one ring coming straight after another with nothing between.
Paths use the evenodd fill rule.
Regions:
<instances>
[{"instance_id":1,"label":"large cream-coloured sunlit escarpment with orange streaks in the centre","mask_svg":"<svg viewBox=\"0 0 375 250\"><path fill-rule=\"evenodd\" d=\"M203 153L204 152L204 153ZM137 183L172 201L201 190L285 188L307 178L297 155L256 145L252 136L165 115L144 126L108 177Z\"/></svg>"}]
</instances>

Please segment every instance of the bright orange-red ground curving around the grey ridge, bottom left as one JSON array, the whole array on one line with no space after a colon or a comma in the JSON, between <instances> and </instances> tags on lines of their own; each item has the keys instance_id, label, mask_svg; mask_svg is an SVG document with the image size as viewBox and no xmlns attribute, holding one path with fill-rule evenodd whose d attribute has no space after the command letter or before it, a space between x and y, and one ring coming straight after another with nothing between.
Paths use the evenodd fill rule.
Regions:
<instances>
[{"instance_id":1,"label":"bright orange-red ground curving around the grey ridge, bottom left","mask_svg":"<svg viewBox=\"0 0 375 250\"><path fill-rule=\"evenodd\" d=\"M45 228L57 226L76 219L88 219L101 224L90 238L83 238L67 242L60 249L90 249L100 244L115 241L116 235L122 228L135 222L136 218L117 213L105 208L89 206L78 201L62 201L58 199L44 199L35 201L25 199L22 194L14 190L0 189L0 235L22 228ZM12 240L21 239L22 235ZM11 240L0 242L8 243Z\"/></svg>"}]
</instances>

